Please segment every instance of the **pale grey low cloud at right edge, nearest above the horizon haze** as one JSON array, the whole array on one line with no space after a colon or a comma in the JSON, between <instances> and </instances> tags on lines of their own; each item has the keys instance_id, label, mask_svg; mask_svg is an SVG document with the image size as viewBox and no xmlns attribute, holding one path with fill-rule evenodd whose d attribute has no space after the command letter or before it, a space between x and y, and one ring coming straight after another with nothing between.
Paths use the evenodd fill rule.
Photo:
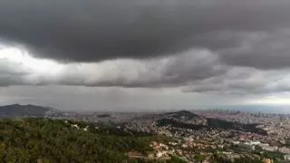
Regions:
<instances>
[{"instance_id":1,"label":"pale grey low cloud at right edge, nearest above the horizon haze","mask_svg":"<svg viewBox=\"0 0 290 163\"><path fill-rule=\"evenodd\" d=\"M193 82L183 91L243 95L289 92L288 71L262 72L253 68L236 68L220 76Z\"/></svg>"}]
</instances>

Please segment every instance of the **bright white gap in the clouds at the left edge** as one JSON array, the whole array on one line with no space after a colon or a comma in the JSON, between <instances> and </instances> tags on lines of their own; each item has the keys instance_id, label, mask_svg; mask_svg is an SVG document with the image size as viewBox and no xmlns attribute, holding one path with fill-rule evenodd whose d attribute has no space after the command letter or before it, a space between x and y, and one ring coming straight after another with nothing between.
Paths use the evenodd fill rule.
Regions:
<instances>
[{"instance_id":1,"label":"bright white gap in the clouds at the left edge","mask_svg":"<svg viewBox=\"0 0 290 163\"><path fill-rule=\"evenodd\" d=\"M5 59L8 62L15 62L25 70L36 74L57 74L63 71L63 65L50 60L35 59L25 51L7 47L0 49L0 59Z\"/></svg>"}]
</instances>

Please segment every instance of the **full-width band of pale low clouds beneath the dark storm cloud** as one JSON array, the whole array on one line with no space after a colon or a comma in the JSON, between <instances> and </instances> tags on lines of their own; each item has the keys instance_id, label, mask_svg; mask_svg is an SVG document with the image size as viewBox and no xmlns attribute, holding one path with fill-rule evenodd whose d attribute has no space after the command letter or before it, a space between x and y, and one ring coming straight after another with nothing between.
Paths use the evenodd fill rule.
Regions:
<instances>
[{"instance_id":1,"label":"full-width band of pale low clouds beneath the dark storm cloud","mask_svg":"<svg viewBox=\"0 0 290 163\"><path fill-rule=\"evenodd\" d=\"M204 50L150 60L66 64L43 62L27 54L18 61L9 56L0 57L0 86L177 88L183 92L244 95L290 91L288 69L230 66L223 64L215 53ZM32 66L31 62L40 63Z\"/></svg>"}]
</instances>

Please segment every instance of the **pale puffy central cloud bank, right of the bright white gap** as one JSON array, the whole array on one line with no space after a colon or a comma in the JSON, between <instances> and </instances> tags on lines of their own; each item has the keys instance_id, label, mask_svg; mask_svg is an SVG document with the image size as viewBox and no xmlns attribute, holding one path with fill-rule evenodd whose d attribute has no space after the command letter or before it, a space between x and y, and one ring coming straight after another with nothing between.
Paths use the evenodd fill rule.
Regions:
<instances>
[{"instance_id":1,"label":"pale puffy central cloud bank, right of the bright white gap","mask_svg":"<svg viewBox=\"0 0 290 163\"><path fill-rule=\"evenodd\" d=\"M92 71L88 71L88 70ZM99 70L95 72L93 70ZM82 73L86 72L86 73ZM179 87L227 72L216 55L208 51L189 51L169 58L115 60L68 68L60 83L86 86Z\"/></svg>"}]
</instances>

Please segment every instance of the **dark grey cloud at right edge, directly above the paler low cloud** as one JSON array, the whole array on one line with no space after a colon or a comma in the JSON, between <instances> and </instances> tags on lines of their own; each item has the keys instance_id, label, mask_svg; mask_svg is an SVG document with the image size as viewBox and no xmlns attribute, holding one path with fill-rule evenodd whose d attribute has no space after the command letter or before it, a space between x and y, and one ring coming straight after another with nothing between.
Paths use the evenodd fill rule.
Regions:
<instances>
[{"instance_id":1,"label":"dark grey cloud at right edge, directly above the paler low cloud","mask_svg":"<svg viewBox=\"0 0 290 163\"><path fill-rule=\"evenodd\" d=\"M241 46L219 52L223 62L259 69L282 69L290 66L289 29L244 35Z\"/></svg>"}]
</instances>

